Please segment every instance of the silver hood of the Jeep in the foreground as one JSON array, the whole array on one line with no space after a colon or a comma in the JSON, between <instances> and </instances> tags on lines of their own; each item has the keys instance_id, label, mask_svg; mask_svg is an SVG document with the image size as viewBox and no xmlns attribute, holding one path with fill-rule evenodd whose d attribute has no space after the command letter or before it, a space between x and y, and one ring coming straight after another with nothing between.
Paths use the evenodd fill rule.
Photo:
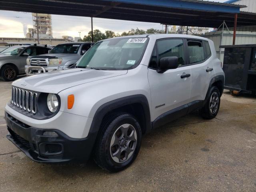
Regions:
<instances>
[{"instance_id":1,"label":"silver hood of the Jeep in the foreground","mask_svg":"<svg viewBox=\"0 0 256 192\"><path fill-rule=\"evenodd\" d=\"M127 73L127 70L95 70L74 68L46 72L25 78L18 79L12 83L26 90L37 92L58 93L64 89L85 84L105 78L120 76Z\"/></svg>"}]
</instances>

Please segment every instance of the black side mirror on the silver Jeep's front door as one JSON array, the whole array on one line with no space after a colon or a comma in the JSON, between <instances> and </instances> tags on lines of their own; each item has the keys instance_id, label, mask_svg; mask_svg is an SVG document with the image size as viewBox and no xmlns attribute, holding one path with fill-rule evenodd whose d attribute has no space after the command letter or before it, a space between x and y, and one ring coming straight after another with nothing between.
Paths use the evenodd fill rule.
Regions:
<instances>
[{"instance_id":1,"label":"black side mirror on the silver Jeep's front door","mask_svg":"<svg viewBox=\"0 0 256 192\"><path fill-rule=\"evenodd\" d=\"M163 57L159 61L158 73L164 73L168 69L176 69L178 67L178 57Z\"/></svg>"}]
</instances>

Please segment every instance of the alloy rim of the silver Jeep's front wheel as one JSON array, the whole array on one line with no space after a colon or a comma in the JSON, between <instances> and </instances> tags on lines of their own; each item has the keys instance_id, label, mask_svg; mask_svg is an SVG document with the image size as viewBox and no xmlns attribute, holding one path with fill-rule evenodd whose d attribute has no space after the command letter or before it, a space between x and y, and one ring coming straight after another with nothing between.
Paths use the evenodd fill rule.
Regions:
<instances>
[{"instance_id":1,"label":"alloy rim of the silver Jeep's front wheel","mask_svg":"<svg viewBox=\"0 0 256 192\"><path fill-rule=\"evenodd\" d=\"M123 124L114 132L110 142L110 155L117 163L127 161L136 148L137 133L131 124Z\"/></svg>"}]
</instances>

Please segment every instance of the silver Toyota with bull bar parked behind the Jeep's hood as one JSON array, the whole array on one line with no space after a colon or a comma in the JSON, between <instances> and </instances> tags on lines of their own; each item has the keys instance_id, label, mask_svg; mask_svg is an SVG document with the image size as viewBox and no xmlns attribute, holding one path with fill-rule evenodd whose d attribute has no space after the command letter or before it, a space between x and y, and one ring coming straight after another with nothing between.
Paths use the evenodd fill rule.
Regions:
<instances>
[{"instance_id":1,"label":"silver Toyota with bull bar parked behind the Jeep's hood","mask_svg":"<svg viewBox=\"0 0 256 192\"><path fill-rule=\"evenodd\" d=\"M80 59L93 44L94 43L91 42L58 44L49 54L28 57L25 72L29 76L74 66L78 59Z\"/></svg>"}]
</instances>

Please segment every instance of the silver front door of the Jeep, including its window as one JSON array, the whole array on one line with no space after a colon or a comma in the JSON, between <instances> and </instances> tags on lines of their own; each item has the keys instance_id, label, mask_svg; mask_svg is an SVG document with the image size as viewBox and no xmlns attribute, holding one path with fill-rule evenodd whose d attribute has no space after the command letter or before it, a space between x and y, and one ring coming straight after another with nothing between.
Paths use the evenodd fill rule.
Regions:
<instances>
[{"instance_id":1,"label":"silver front door of the Jeep, including its window","mask_svg":"<svg viewBox=\"0 0 256 192\"><path fill-rule=\"evenodd\" d=\"M186 66L184 43L184 39L174 38L156 41L148 66L148 81L152 100L152 120L176 108L186 114L186 108L182 108L182 106L186 105L190 99L191 78L181 77L184 74L190 74L190 66ZM164 73L158 73L157 69L160 58L169 56L178 57L179 67L167 70ZM181 114L181 116L184 114Z\"/></svg>"}]
</instances>

